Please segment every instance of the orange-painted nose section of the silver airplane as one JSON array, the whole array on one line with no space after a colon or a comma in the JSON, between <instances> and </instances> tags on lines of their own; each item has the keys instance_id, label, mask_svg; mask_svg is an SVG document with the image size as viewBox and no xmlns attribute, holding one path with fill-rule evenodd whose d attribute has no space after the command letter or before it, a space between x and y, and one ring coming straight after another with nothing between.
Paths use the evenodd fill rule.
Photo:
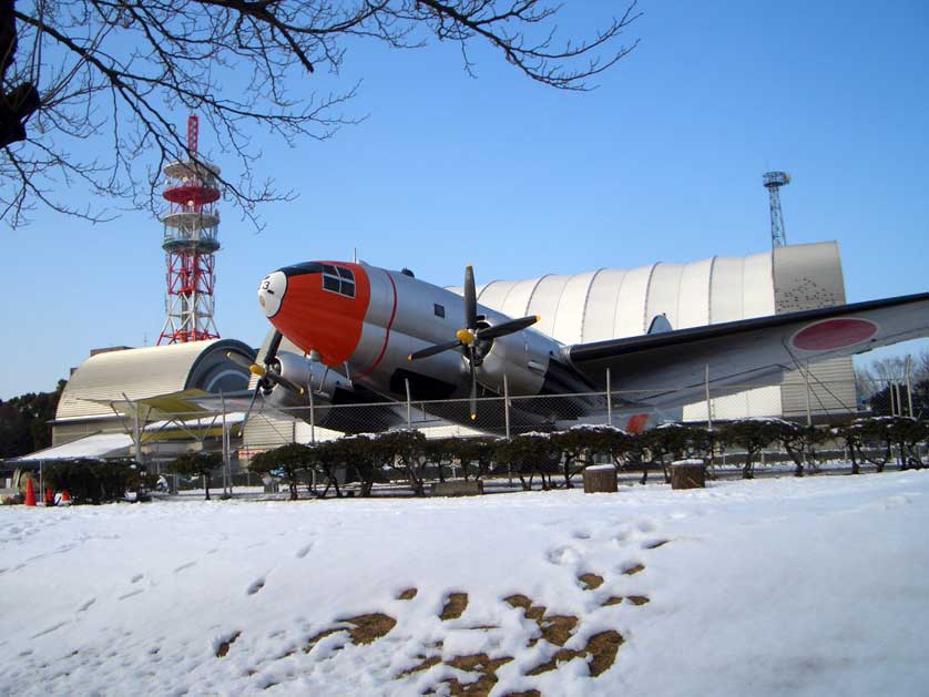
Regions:
<instances>
[{"instance_id":1,"label":"orange-painted nose section of the silver airplane","mask_svg":"<svg viewBox=\"0 0 929 697\"><path fill-rule=\"evenodd\" d=\"M283 297L275 298L279 307L269 317L272 324L302 350L317 351L327 366L351 358L371 297L365 269L320 262L277 273L286 275L287 283Z\"/></svg>"}]
</instances>

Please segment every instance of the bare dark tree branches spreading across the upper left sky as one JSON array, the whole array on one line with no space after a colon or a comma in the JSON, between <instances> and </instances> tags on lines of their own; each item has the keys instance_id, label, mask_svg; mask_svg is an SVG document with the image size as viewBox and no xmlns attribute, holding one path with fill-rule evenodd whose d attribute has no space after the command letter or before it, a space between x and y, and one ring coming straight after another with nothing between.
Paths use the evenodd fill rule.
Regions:
<instances>
[{"instance_id":1,"label":"bare dark tree branches spreading across the upper left sky","mask_svg":"<svg viewBox=\"0 0 929 697\"><path fill-rule=\"evenodd\" d=\"M558 39L560 11L543 0L0 0L0 219L23 225L37 206L114 215L55 197L75 182L157 213L162 168L195 156L166 115L187 110L236 156L237 176L222 184L261 228L258 204L294 195L256 178L252 135L265 129L294 144L358 123L343 111L357 84L303 91L308 76L338 75L347 40L451 41L469 74L468 49L482 43L531 80L570 91L594 86L637 44L620 44L639 18L634 0L580 42ZM69 153L88 140L100 144L95 158Z\"/></svg>"}]
</instances>

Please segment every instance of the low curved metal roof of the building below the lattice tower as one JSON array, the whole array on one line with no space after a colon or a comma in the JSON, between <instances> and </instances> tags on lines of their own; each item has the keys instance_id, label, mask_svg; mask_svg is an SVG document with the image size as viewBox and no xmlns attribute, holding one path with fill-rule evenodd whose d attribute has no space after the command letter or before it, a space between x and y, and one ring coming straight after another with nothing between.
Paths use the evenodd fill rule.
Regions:
<instances>
[{"instance_id":1,"label":"low curved metal roof of the building below the lattice tower","mask_svg":"<svg viewBox=\"0 0 929 697\"><path fill-rule=\"evenodd\" d=\"M71 376L58 404L55 420L110 414L100 401L130 400L204 390L246 389L251 373L231 362L226 352L253 360L255 351L235 339L191 341L169 346L109 351L91 356Z\"/></svg>"}]
</instances>

